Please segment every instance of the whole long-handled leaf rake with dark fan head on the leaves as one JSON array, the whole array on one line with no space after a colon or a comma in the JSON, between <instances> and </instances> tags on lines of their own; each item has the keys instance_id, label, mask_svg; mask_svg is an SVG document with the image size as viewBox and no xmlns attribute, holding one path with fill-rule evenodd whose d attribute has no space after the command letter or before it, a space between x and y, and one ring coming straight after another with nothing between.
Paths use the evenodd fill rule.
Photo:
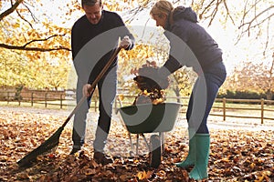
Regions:
<instances>
[{"instance_id":1,"label":"whole long-handled leaf rake with dark fan head on the leaves","mask_svg":"<svg viewBox=\"0 0 274 182\"><path fill-rule=\"evenodd\" d=\"M95 86L98 84L98 82L100 81L100 78L106 73L106 71L109 69L109 67L111 66L111 64L113 63L113 61L115 60L115 57L118 56L119 52L121 51L121 46L118 46L114 53L112 54L110 60L108 61L108 63L106 64L106 66L103 67L103 69L100 71L100 74L96 77L96 79L94 80L94 82L91 84L90 86L90 90L89 92L92 93L93 90L95 89ZM17 161L17 165L19 167L27 167L30 166L31 164L33 164L36 160L37 157L40 155L44 155L47 154L48 152L54 150L54 148L58 147L58 143L59 143L59 137L64 129L64 127L68 124L68 121L70 120L70 118L79 110L79 107L84 103L84 101L87 99L86 96L82 96L82 98L79 100L79 103L77 104L77 106L75 106L75 108L72 110L72 112L70 113L70 115L67 117L66 121L64 122L64 124L62 126L60 126L58 128L58 130L49 138L47 138L47 140L45 142L43 142L39 147L35 148L33 151L31 151L30 153L28 153L25 157L23 157L22 159L20 159L19 161Z\"/></svg>"}]
</instances>

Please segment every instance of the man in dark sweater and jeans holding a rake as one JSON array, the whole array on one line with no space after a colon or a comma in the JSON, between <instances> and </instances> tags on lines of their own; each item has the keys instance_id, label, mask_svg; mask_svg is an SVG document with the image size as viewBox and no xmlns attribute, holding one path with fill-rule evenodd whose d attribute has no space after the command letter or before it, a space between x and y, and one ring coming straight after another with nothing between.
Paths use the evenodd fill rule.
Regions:
<instances>
[{"instance_id":1,"label":"man in dark sweater and jeans holding a rake","mask_svg":"<svg viewBox=\"0 0 274 182\"><path fill-rule=\"evenodd\" d=\"M70 154L80 150L85 140L86 118L90 108L90 85L108 63L112 53L118 46L126 50L132 49L134 37L125 27L121 16L103 10L101 0L82 0L85 15L81 16L72 26L71 47L73 64L75 66L77 83L77 103L82 96L87 96L74 116L72 140L73 148ZM93 142L94 159L102 165L111 162L105 156L104 147L111 127L112 103L116 95L117 57L97 84L100 96L100 116Z\"/></svg>"}]
</instances>

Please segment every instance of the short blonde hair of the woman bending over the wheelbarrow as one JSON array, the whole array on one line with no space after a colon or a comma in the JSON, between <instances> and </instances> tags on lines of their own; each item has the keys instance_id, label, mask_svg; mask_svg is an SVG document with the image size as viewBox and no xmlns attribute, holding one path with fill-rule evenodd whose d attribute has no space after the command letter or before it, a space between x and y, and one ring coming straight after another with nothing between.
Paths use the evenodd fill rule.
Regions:
<instances>
[{"instance_id":1,"label":"short blonde hair of the woman bending over the wheelbarrow","mask_svg":"<svg viewBox=\"0 0 274 182\"><path fill-rule=\"evenodd\" d=\"M169 15L174 10L173 4L166 0L160 0L153 5L150 15Z\"/></svg>"}]
</instances>

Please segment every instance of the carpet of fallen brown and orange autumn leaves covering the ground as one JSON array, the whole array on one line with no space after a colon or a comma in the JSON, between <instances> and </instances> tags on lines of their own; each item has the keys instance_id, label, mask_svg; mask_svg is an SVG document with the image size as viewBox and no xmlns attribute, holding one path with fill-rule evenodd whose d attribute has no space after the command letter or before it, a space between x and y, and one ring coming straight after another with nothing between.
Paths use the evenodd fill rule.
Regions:
<instances>
[{"instance_id":1,"label":"carpet of fallen brown and orange autumn leaves covering the ground","mask_svg":"<svg viewBox=\"0 0 274 182\"><path fill-rule=\"evenodd\" d=\"M16 161L52 135L65 118L27 112L27 108L26 112L2 109L0 181L192 181L186 170L174 167L188 150L182 132L185 128L179 126L166 136L162 164L157 169L149 167L145 147L141 146L141 155L129 156L127 131L121 122L113 122L107 146L113 164L97 164L90 143L78 155L68 156L71 128L66 128L56 152L38 157L33 167L18 168ZM209 180L274 181L274 131L225 129L211 130Z\"/></svg>"}]
</instances>

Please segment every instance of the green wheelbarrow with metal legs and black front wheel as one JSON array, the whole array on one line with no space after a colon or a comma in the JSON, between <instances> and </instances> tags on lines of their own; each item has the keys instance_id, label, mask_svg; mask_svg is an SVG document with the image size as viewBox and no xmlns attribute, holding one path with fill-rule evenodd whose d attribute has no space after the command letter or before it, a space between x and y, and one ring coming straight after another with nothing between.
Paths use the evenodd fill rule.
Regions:
<instances>
[{"instance_id":1,"label":"green wheelbarrow with metal legs and black front wheel","mask_svg":"<svg viewBox=\"0 0 274 182\"><path fill-rule=\"evenodd\" d=\"M118 110L121 120L129 132L132 149L131 134L137 135L136 155L138 155L139 136L143 137L150 151L149 163L151 167L157 168L161 164L164 145L163 132L171 131L174 128L181 106L180 103L142 104L122 106ZM145 133L158 133L158 135L152 135L148 143L144 136Z\"/></svg>"}]
</instances>

